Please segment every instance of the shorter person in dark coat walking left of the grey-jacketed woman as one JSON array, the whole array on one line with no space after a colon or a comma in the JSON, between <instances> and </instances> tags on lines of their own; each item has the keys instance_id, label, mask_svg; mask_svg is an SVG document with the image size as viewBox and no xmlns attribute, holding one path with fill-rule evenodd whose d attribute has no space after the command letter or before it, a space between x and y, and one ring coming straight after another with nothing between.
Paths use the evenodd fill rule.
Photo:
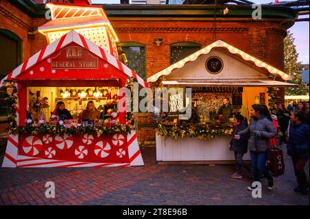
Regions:
<instances>
[{"instance_id":1,"label":"shorter person in dark coat walking left of the grey-jacketed woman","mask_svg":"<svg viewBox=\"0 0 310 219\"><path fill-rule=\"evenodd\" d=\"M235 133L245 130L247 128L247 122L245 118L240 115L234 115L234 133L230 141L230 150L234 151L236 159L236 172L231 175L231 178L242 178L241 169L245 168L249 173L249 178L251 178L251 167L242 161L243 155L247 152L247 137L241 136L236 139L234 138Z\"/></svg>"}]
</instances>

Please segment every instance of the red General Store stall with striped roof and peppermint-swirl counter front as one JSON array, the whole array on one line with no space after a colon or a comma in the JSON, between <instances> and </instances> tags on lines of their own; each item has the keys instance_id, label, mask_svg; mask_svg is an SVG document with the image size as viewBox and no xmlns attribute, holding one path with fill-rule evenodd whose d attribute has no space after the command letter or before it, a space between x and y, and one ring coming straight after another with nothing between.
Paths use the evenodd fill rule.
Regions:
<instances>
[{"instance_id":1,"label":"red General Store stall with striped roof and peppermint-swirl counter front","mask_svg":"<svg viewBox=\"0 0 310 219\"><path fill-rule=\"evenodd\" d=\"M79 3L78 5L76 3ZM23 126L29 102L29 91L39 87L45 93L59 87L124 87L134 77L142 87L147 82L120 60L116 34L101 7L88 1L75 4L53 4L52 21L39 28L48 45L1 81L12 80L18 88L17 125ZM58 90L57 90L58 92ZM58 93L50 97L54 104ZM70 103L70 102L69 102ZM75 101L71 100L72 106ZM50 109L52 110L52 108ZM126 113L119 113L119 124L125 124ZM136 132L110 135L74 133L31 135L19 133L8 137L2 167L112 167L144 165Z\"/></svg>"}]
</instances>

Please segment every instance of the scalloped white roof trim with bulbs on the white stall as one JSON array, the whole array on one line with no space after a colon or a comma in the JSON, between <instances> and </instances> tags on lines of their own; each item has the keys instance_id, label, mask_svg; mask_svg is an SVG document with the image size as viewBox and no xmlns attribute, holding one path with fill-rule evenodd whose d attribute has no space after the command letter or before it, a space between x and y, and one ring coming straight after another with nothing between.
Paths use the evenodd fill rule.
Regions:
<instances>
[{"instance_id":1,"label":"scalloped white roof trim with bulbs on the white stall","mask_svg":"<svg viewBox=\"0 0 310 219\"><path fill-rule=\"evenodd\" d=\"M187 56L186 58L183 58L183 60L174 63L174 65L170 65L169 67L163 69L162 71L158 71L158 73L155 73L153 76L147 78L147 82L156 82L156 80L158 80L160 76L167 76L174 69L182 68L185 65L185 63L195 61L198 58L198 56L203 54L209 54L211 49L213 49L214 47L225 47L229 50L229 52L231 52L231 54L239 54L244 60L254 62L254 64L257 67L265 68L269 71L269 73L280 75L283 80L292 80L291 76L289 76L287 73L280 71L275 67L272 67L266 62L263 62L262 60L259 60L258 58L255 58L254 56L251 56L245 53L244 51L241 51L240 49L237 49L236 47L229 45L228 43L225 43L224 41L218 40L208 45L207 47L204 47L203 49L196 51L194 54Z\"/></svg>"}]
</instances>

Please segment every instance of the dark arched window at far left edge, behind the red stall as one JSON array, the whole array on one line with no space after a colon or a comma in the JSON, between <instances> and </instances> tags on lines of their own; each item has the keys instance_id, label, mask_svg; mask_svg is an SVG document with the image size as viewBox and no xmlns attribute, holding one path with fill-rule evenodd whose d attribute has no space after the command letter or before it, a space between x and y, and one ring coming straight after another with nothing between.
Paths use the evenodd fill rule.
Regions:
<instances>
[{"instance_id":1,"label":"dark arched window at far left edge, behind the red stall","mask_svg":"<svg viewBox=\"0 0 310 219\"><path fill-rule=\"evenodd\" d=\"M10 71L21 64L21 38L16 34L0 29L0 78L5 77ZM0 89L0 101L6 98L6 89ZM5 103L5 102L4 102ZM0 104L0 120L6 119L8 106Z\"/></svg>"}]
</instances>

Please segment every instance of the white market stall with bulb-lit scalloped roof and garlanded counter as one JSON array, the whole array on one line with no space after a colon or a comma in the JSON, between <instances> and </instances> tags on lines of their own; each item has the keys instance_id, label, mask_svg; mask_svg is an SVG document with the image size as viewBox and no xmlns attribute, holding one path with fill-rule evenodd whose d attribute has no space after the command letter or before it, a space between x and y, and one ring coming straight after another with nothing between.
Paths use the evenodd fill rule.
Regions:
<instances>
[{"instance_id":1,"label":"white market stall with bulb-lit scalloped roof and garlanded counter","mask_svg":"<svg viewBox=\"0 0 310 219\"><path fill-rule=\"evenodd\" d=\"M285 82L287 80L291 77L286 73L223 41L216 41L149 77L147 82L151 87L162 84L166 88L192 88L191 98L198 104L201 119L199 124L188 126L183 125L184 121L178 126L174 117L159 122L160 126L156 126L157 161L231 163L234 161L234 153L229 150L232 129L228 124L217 124L214 119L223 97L229 97L234 113L249 118L251 105L268 106L268 88L289 87L292 84ZM183 101L185 106L191 98ZM204 132L206 129L208 131ZM200 136L199 130L204 136ZM249 152L244 159L250 159Z\"/></svg>"}]
</instances>

